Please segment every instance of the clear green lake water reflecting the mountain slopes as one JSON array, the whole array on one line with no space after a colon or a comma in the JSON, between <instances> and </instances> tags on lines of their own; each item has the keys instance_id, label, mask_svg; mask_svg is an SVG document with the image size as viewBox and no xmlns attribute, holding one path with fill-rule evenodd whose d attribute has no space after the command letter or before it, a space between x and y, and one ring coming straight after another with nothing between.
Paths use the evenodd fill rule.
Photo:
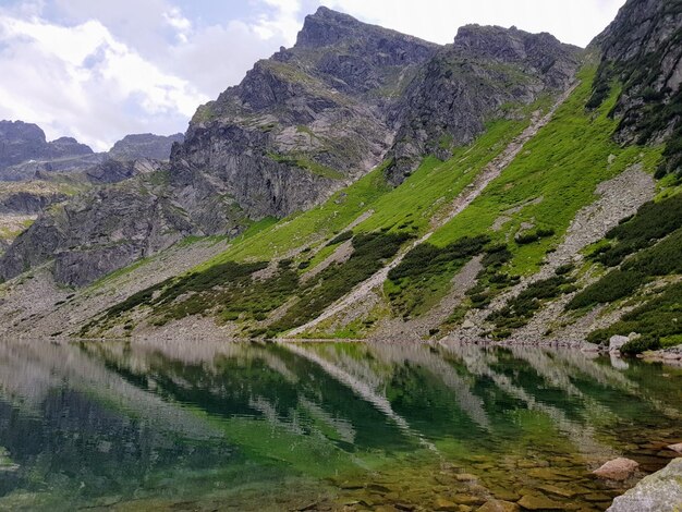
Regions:
<instances>
[{"instance_id":1,"label":"clear green lake water reflecting the mountain slopes","mask_svg":"<svg viewBox=\"0 0 682 512\"><path fill-rule=\"evenodd\" d=\"M0 510L605 510L681 416L682 369L575 350L0 341Z\"/></svg>"}]
</instances>

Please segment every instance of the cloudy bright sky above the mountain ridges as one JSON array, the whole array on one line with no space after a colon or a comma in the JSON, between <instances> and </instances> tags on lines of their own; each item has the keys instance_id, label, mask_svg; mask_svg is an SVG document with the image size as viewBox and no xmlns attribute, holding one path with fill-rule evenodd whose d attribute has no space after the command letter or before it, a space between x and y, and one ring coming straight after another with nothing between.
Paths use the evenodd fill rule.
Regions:
<instances>
[{"instance_id":1,"label":"cloudy bright sky above the mountain ridges","mask_svg":"<svg viewBox=\"0 0 682 512\"><path fill-rule=\"evenodd\" d=\"M586 46L624 0L0 0L0 119L108 150L184 132L196 108L295 42L318 5L451 42L467 23Z\"/></svg>"}]
</instances>

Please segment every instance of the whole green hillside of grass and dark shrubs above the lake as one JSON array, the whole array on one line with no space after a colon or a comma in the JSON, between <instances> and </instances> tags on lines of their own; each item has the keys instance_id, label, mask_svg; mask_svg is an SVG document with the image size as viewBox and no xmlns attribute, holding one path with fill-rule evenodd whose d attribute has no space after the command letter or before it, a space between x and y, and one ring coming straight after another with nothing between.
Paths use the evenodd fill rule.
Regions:
<instances>
[{"instance_id":1,"label":"whole green hillside of grass and dark shrubs above the lake","mask_svg":"<svg viewBox=\"0 0 682 512\"><path fill-rule=\"evenodd\" d=\"M81 334L130 333L141 325L160 326L186 316L208 315L219 324L232 325L238 336L279 336L315 319L395 255L404 253L414 240L431 232L428 242L409 251L388 273L379 304L362 310L360 316L320 325L308 336L363 337L387 317L417 319L451 292L453 277L479 255L483 270L475 285L440 325L441 333L455 328L467 309L485 308L524 276L541 269L547 255L563 241L579 210L597 199L599 183L635 163L654 173L661 147L622 148L611 138L617 121L608 112L618 96L616 88L597 110L585 108L594 72L590 66L581 71L580 85L552 120L526 143L500 176L449 222L440 225L436 219L528 125L533 110L549 107L548 98L519 110L508 120L490 122L484 135L471 146L458 148L448 161L424 159L398 187L389 186L383 179L385 166L389 163L386 162L321 206L281 221L265 219L255 223L224 253L184 276L129 297L94 318ZM660 195L660 200L667 202L667 211L678 200L666 199L669 195L670 192ZM651 211L648 217L657 217L658 210ZM630 254L623 247L632 248L631 253L643 249L644 235L640 231L644 225L648 233L650 222L647 224L640 217L616 230L608 248L599 245L598 254L586 266L605 273L597 268L606 268L599 258L619 265L618 258ZM678 241L674 233L670 234L674 229L662 229L662 240L646 251L657 258L675 251ZM648 257L648 253L643 254L631 256L622 270L612 272L628 271L628 266L634 266L647 276L641 279L640 284L644 283L655 271L642 263ZM546 303L582 289L581 276L585 271L568 265L528 287L499 313L488 316L497 329L492 337L509 336L525 326ZM663 273L679 271L671 267ZM604 279L608 278L607 273ZM569 308L577 308L580 316L582 310L604 301L589 298L590 293L589 288L580 291ZM670 293L674 295L674 290ZM661 304L668 305L666 297ZM618 298L622 295L613 300ZM650 318L649 309L636 315ZM438 329L431 331L436 334Z\"/></svg>"}]
</instances>

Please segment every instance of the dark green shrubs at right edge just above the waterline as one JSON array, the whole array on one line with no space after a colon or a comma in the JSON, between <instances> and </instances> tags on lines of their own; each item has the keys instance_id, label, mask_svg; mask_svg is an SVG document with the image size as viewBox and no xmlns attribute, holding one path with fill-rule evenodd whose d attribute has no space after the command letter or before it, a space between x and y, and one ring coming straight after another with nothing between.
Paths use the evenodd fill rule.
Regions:
<instances>
[{"instance_id":1,"label":"dark green shrubs at right edge just above the waterline","mask_svg":"<svg viewBox=\"0 0 682 512\"><path fill-rule=\"evenodd\" d=\"M592 343L606 344L614 334L631 332L641 338L626 343L623 353L634 354L682 343L682 283L668 284L654 298L623 315L620 321L589 333Z\"/></svg>"}]
</instances>

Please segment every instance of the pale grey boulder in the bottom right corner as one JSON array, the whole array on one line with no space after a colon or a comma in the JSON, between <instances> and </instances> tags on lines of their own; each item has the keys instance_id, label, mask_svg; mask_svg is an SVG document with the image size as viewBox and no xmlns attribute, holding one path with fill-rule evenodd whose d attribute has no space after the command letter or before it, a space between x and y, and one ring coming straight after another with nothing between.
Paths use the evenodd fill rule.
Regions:
<instances>
[{"instance_id":1,"label":"pale grey boulder in the bottom right corner","mask_svg":"<svg viewBox=\"0 0 682 512\"><path fill-rule=\"evenodd\" d=\"M681 507L682 459L675 459L616 498L608 512L673 512Z\"/></svg>"}]
</instances>

